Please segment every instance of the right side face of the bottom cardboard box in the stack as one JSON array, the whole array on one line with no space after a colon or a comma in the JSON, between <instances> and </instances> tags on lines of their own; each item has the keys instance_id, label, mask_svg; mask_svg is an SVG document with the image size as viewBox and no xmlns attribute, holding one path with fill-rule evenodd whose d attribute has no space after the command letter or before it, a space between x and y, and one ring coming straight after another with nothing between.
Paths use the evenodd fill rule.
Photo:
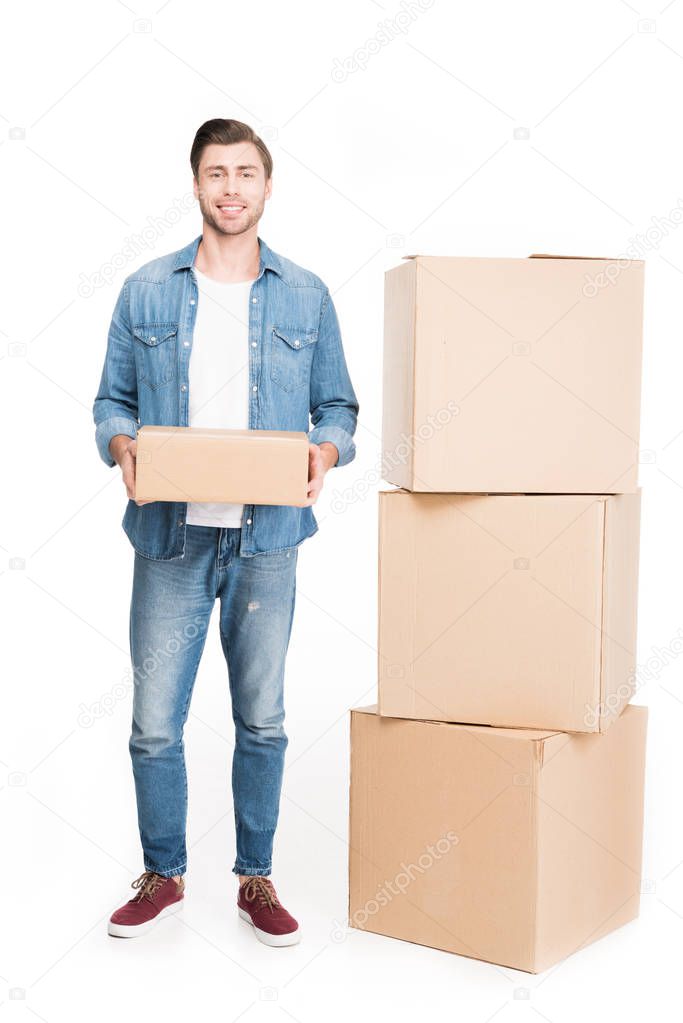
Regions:
<instances>
[{"instance_id":1,"label":"right side face of the bottom cardboard box in the stack","mask_svg":"<svg viewBox=\"0 0 683 1023\"><path fill-rule=\"evenodd\" d=\"M647 709L604 736L543 743L538 790L537 969L638 916ZM597 792L593 788L597 787Z\"/></svg>"}]
</instances>

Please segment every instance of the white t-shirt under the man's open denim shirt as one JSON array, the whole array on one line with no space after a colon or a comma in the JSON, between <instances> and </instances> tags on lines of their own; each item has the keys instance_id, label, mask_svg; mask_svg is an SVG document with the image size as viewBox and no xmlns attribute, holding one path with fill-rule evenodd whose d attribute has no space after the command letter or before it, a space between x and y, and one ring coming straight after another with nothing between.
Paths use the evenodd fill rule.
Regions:
<instances>
[{"instance_id":1,"label":"white t-shirt under the man's open denim shirt","mask_svg":"<svg viewBox=\"0 0 683 1023\"><path fill-rule=\"evenodd\" d=\"M189 426L248 430L251 280L196 274L199 297L189 364ZM189 501L195 526L240 527L243 504Z\"/></svg>"}]
</instances>

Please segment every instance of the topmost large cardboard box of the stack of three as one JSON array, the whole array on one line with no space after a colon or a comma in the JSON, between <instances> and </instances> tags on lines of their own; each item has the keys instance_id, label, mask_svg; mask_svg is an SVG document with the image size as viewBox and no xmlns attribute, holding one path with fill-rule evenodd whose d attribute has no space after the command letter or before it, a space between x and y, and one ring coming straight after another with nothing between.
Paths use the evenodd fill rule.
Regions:
<instances>
[{"instance_id":1,"label":"topmost large cardboard box of the stack of three","mask_svg":"<svg viewBox=\"0 0 683 1023\"><path fill-rule=\"evenodd\" d=\"M636 489L642 261L405 260L384 276L388 482L470 493Z\"/></svg>"}]
</instances>

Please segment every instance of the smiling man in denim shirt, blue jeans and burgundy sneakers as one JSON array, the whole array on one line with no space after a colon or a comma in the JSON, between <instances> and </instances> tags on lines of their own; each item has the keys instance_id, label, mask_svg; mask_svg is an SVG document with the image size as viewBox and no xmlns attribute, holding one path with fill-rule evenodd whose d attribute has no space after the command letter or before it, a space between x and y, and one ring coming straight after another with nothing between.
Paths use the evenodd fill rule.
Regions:
<instances>
[{"instance_id":1,"label":"smiling man in denim shirt, blue jeans and burgundy sneakers","mask_svg":"<svg viewBox=\"0 0 683 1023\"><path fill-rule=\"evenodd\" d=\"M359 404L329 291L257 233L272 190L264 142L239 121L208 121L190 163L202 233L124 281L93 405L99 454L122 471L122 526L135 550L130 753L144 863L108 933L142 934L182 906L183 728L218 598L235 724L238 913L260 940L285 945L299 925L270 875L297 561L318 530L311 505L325 474L355 456ZM147 424L308 433L306 505L136 501L136 437Z\"/></svg>"}]
</instances>

